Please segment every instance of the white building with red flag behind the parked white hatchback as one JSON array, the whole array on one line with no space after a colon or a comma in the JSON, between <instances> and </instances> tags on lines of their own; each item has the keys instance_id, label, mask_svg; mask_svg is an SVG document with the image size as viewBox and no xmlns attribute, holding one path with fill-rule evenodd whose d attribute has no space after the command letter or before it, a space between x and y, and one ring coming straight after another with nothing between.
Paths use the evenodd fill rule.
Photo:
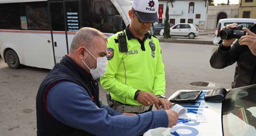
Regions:
<instances>
[{"instance_id":1,"label":"white building with red flag behind the parked white hatchback","mask_svg":"<svg viewBox=\"0 0 256 136\"><path fill-rule=\"evenodd\" d=\"M206 30L208 3L212 0L158 0L159 23L164 23L166 6L169 6L169 23L192 23Z\"/></svg>"}]
</instances>

